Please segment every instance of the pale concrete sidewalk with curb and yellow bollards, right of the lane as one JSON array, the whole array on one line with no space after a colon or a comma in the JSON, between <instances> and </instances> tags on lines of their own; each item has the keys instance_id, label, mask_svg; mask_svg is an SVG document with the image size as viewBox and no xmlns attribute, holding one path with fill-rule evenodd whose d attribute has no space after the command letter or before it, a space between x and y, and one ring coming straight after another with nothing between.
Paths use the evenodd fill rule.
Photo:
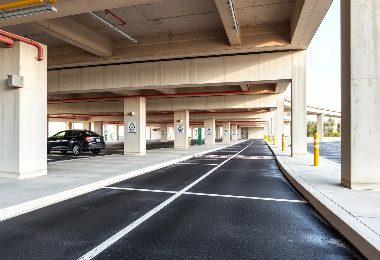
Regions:
<instances>
[{"instance_id":1,"label":"pale concrete sidewalk with curb and yellow bollards, right of the lane","mask_svg":"<svg viewBox=\"0 0 380 260\"><path fill-rule=\"evenodd\" d=\"M291 157L270 145L280 169L307 201L369 260L380 259L380 190L340 184L340 164L313 156Z\"/></svg>"}]
</instances>

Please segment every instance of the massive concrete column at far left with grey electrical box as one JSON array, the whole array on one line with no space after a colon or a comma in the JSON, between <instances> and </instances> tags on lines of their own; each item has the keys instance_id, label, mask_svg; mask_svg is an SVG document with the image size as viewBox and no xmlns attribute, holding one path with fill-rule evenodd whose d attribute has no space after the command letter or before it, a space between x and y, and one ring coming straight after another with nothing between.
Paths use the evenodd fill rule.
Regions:
<instances>
[{"instance_id":1,"label":"massive concrete column at far left with grey electrical box","mask_svg":"<svg viewBox=\"0 0 380 260\"><path fill-rule=\"evenodd\" d=\"M3 47L3 46L2 46ZM21 41L0 48L0 176L29 178L47 174L47 47ZM8 87L7 75L24 78L24 87Z\"/></svg>"}]
</instances>

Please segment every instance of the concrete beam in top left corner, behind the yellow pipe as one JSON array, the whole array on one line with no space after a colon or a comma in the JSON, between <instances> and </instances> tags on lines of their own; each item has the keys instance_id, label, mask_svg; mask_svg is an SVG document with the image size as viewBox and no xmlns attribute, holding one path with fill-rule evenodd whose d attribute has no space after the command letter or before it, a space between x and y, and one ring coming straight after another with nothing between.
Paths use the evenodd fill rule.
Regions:
<instances>
[{"instance_id":1,"label":"concrete beam in top left corner, behind the yellow pipe","mask_svg":"<svg viewBox=\"0 0 380 260\"><path fill-rule=\"evenodd\" d=\"M74 14L82 14L91 11L100 11L105 9L113 9L131 5L141 5L146 3L158 2L162 0L112 0L112 1L93 1L93 0L62 0L53 4L57 8L57 12L46 12L41 14L33 14L22 17L15 17L0 20L0 27L24 24L27 22L41 21L56 17L70 16Z\"/></svg>"}]
</instances>

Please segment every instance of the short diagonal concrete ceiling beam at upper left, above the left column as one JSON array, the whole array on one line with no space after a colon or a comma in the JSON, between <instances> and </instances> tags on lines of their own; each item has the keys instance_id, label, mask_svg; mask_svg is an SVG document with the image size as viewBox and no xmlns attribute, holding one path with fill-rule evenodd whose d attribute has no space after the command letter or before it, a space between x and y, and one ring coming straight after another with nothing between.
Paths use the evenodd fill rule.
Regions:
<instances>
[{"instance_id":1,"label":"short diagonal concrete ceiling beam at upper left, above the left column","mask_svg":"<svg viewBox=\"0 0 380 260\"><path fill-rule=\"evenodd\" d=\"M110 40L68 17L30 22L27 25L99 57L111 57L112 55Z\"/></svg>"}]
</instances>

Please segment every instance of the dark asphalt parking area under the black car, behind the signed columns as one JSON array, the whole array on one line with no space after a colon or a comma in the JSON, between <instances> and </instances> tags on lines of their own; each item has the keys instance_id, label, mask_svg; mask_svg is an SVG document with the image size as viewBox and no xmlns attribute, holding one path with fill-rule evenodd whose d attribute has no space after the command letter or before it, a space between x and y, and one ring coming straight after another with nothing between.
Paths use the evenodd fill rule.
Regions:
<instances>
[{"instance_id":1,"label":"dark asphalt parking area under the black car, behind the signed columns","mask_svg":"<svg viewBox=\"0 0 380 260\"><path fill-rule=\"evenodd\" d=\"M215 140L215 142L220 142L222 140ZM204 144L204 139L202 140ZM192 145L198 145L198 139L192 139ZM173 148L174 140L169 140L168 142L160 142L160 140L152 139L146 140L146 151L162 148ZM73 160L86 157L98 157L110 154L123 154L124 152L124 141L112 141L106 143L106 149L102 150L100 154L93 154L92 152L83 152L82 155L76 156L73 152L68 151L62 154L59 151L52 151L47 155L47 162L60 162L65 160Z\"/></svg>"}]
</instances>

